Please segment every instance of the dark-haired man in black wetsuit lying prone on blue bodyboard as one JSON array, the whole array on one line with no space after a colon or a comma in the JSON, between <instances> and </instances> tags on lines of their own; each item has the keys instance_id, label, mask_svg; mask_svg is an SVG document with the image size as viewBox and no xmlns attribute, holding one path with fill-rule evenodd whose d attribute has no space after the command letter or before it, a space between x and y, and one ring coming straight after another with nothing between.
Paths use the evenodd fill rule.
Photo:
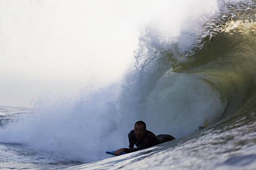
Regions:
<instances>
[{"instance_id":1,"label":"dark-haired man in black wetsuit lying prone on blue bodyboard","mask_svg":"<svg viewBox=\"0 0 256 170\"><path fill-rule=\"evenodd\" d=\"M155 135L151 131L146 129L146 124L143 121L138 121L134 125L134 130L128 133L129 148L121 148L114 152L114 155L120 153L131 153L137 150L145 149L163 142L174 140L175 138L171 135ZM134 144L137 148L134 148Z\"/></svg>"}]
</instances>

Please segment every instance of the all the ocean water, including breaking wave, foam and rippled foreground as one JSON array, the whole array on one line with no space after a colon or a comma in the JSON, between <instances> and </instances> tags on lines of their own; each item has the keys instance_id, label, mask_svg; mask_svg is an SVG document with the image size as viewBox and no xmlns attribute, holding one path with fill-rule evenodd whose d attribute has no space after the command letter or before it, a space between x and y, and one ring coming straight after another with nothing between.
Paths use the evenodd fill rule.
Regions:
<instances>
[{"instance_id":1,"label":"all the ocean water, including breaking wave, foam and rippled foreground","mask_svg":"<svg viewBox=\"0 0 256 170\"><path fill-rule=\"evenodd\" d=\"M32 109L1 107L0 168L254 170L256 1L172 5L143 27L118 82ZM128 147L139 119L177 139L105 154Z\"/></svg>"}]
</instances>

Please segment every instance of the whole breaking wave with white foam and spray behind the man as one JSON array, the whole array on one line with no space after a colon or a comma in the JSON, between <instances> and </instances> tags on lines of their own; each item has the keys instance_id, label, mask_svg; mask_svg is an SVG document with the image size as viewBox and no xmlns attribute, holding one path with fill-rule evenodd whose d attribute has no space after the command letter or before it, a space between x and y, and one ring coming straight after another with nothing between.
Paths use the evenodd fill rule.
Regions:
<instances>
[{"instance_id":1,"label":"whole breaking wave with white foam and spray behind the man","mask_svg":"<svg viewBox=\"0 0 256 170\"><path fill-rule=\"evenodd\" d=\"M121 82L53 104L38 100L32 115L0 130L0 142L89 162L128 146L138 119L156 134L181 138L246 112L255 104L256 4L234 2L204 3L182 17L176 10L177 18L167 12L142 30L136 62Z\"/></svg>"}]
</instances>

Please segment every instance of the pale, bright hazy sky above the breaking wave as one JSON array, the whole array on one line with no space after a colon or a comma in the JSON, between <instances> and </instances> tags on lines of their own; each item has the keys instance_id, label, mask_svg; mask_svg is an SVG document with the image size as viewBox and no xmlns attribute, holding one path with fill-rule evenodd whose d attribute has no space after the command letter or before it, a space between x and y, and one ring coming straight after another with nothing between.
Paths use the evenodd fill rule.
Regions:
<instances>
[{"instance_id":1,"label":"pale, bright hazy sky above the breaking wave","mask_svg":"<svg viewBox=\"0 0 256 170\"><path fill-rule=\"evenodd\" d=\"M0 105L119 79L168 0L0 0Z\"/></svg>"}]
</instances>

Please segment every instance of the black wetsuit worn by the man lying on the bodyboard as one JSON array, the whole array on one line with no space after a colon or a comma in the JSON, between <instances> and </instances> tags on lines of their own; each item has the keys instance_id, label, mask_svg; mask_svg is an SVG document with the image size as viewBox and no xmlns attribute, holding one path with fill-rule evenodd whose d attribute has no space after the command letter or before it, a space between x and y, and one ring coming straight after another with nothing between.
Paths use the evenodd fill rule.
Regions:
<instances>
[{"instance_id":1,"label":"black wetsuit worn by the man lying on the bodyboard","mask_svg":"<svg viewBox=\"0 0 256 170\"><path fill-rule=\"evenodd\" d=\"M145 137L143 139L138 140L135 136L134 130L131 130L130 133L128 133L128 139L129 139L129 148L125 148L125 153L131 153L135 152L137 150L145 149L147 147L151 147L163 142L168 142L171 140L174 140L175 138L171 135L155 135L149 130L146 130ZM134 144L137 146L137 148L134 148Z\"/></svg>"}]
</instances>

